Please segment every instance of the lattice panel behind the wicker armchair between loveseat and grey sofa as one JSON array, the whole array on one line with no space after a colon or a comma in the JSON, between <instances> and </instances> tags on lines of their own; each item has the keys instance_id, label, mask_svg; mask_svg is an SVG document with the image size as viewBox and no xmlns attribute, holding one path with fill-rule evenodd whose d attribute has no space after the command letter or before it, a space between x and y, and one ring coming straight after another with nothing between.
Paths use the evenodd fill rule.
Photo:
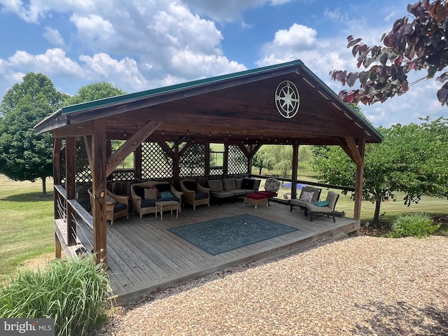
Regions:
<instances>
[{"instance_id":1,"label":"lattice panel behind the wicker armchair between loveseat and grey sofa","mask_svg":"<svg viewBox=\"0 0 448 336\"><path fill-rule=\"evenodd\" d=\"M205 144L193 144L179 158L179 176L205 176Z\"/></svg>"}]
</instances>

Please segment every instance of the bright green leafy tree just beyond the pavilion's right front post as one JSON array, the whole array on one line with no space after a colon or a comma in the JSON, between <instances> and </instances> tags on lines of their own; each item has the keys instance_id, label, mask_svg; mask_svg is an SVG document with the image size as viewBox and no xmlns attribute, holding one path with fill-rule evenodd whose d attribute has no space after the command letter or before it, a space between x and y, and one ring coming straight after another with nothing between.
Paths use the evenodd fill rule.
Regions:
<instances>
[{"instance_id":1,"label":"bright green leafy tree just beyond the pavilion's right front post","mask_svg":"<svg viewBox=\"0 0 448 336\"><path fill-rule=\"evenodd\" d=\"M379 223L381 202L386 197L395 201L395 192L406 193L407 206L418 203L421 195L448 196L448 119L422 121L379 127L384 141L365 147L363 197L375 204L374 223ZM314 153L321 182L355 185L356 165L342 148L316 146Z\"/></svg>"}]
</instances>

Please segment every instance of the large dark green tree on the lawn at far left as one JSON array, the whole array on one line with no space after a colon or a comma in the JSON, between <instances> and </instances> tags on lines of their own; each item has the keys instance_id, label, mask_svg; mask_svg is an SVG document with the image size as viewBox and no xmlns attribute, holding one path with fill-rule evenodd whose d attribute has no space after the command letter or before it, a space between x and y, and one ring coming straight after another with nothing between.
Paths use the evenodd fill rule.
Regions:
<instances>
[{"instance_id":1,"label":"large dark green tree on the lawn at far left","mask_svg":"<svg viewBox=\"0 0 448 336\"><path fill-rule=\"evenodd\" d=\"M0 173L15 181L52 176L51 134L36 134L34 125L56 111L66 99L42 73L27 73L10 88L0 105Z\"/></svg>"}]
</instances>

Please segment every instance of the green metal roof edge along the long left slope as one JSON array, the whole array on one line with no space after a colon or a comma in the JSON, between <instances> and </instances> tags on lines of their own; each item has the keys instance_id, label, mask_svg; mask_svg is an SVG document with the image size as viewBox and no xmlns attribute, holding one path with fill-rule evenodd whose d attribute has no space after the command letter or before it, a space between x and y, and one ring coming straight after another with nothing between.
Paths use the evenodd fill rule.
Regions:
<instances>
[{"instance_id":1,"label":"green metal roof edge along the long left slope","mask_svg":"<svg viewBox=\"0 0 448 336\"><path fill-rule=\"evenodd\" d=\"M165 86L165 87L158 87L158 88L152 89L152 90L134 92L134 93L130 93L130 94L122 94L121 96L110 97L110 98L105 98L105 99L98 99L98 100L94 100L92 102L65 106L62 108L62 114L74 113L74 112L83 111L86 109L87 110L95 109L98 107L107 106L109 104L117 104L117 103L123 103L123 102L127 102L127 101L134 101L137 99L155 96L157 94L165 94L168 92L175 92L175 91L179 91L179 90L190 89L190 88L201 86L201 85L207 85L207 84L211 84L211 83L217 83L217 82L220 82L223 80L241 78L244 76L250 76L250 75L254 75L254 74L258 74L258 73L264 73L264 72L268 72L268 71L272 71L272 70L277 70L277 69L283 69L288 66L294 66L294 65L304 66L302 61L300 61L300 59L297 59L292 62L275 64L275 65L271 65L271 66L265 66L262 68L240 71L240 72L235 72L235 73L228 73L228 74L222 75L222 76L204 78L204 79L200 79L200 80L193 80L193 81L187 82L187 83L169 85L169 86ZM317 78L317 77L315 76L315 78Z\"/></svg>"}]
</instances>

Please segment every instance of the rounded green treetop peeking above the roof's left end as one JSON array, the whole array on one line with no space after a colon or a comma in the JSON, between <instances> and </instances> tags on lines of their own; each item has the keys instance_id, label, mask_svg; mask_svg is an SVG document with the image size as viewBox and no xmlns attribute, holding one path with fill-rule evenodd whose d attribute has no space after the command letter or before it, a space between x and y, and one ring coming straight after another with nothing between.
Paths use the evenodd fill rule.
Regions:
<instances>
[{"instance_id":1,"label":"rounded green treetop peeking above the roof's left end","mask_svg":"<svg viewBox=\"0 0 448 336\"><path fill-rule=\"evenodd\" d=\"M126 94L125 91L115 87L112 83L97 82L81 87L78 92L66 99L64 106L91 102L92 100L104 99L109 97Z\"/></svg>"}]
</instances>

